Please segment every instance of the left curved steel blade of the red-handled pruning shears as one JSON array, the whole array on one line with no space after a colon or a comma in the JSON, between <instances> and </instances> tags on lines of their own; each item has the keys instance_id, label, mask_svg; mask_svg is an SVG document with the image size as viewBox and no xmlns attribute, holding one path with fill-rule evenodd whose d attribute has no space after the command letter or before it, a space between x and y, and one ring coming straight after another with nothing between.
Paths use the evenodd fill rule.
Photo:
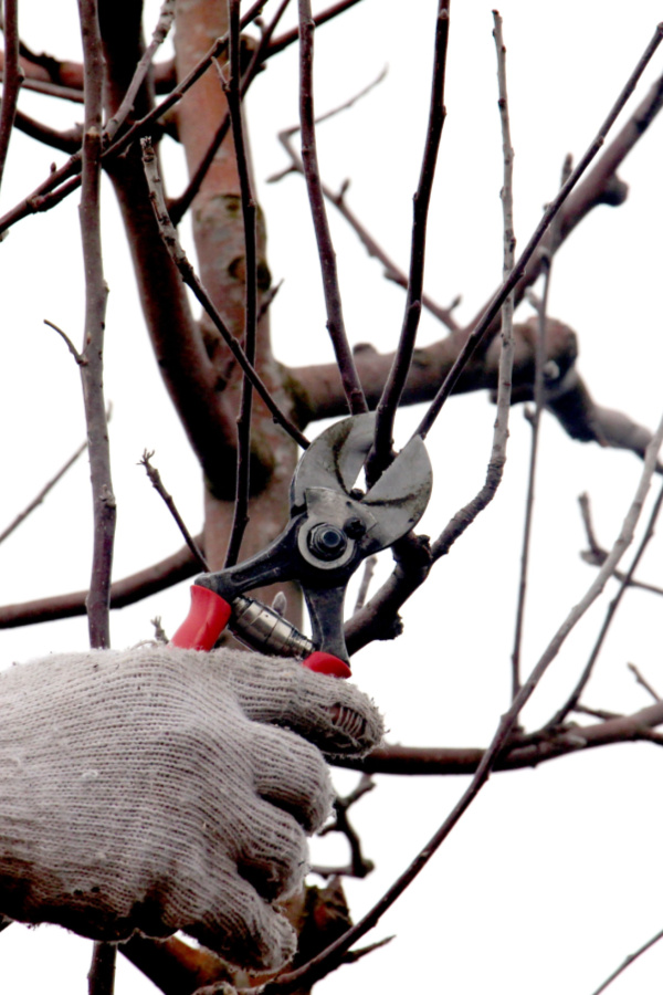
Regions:
<instances>
[{"instance_id":1,"label":"left curved steel blade of the red-handled pruning shears","mask_svg":"<svg viewBox=\"0 0 663 995\"><path fill-rule=\"evenodd\" d=\"M291 504L305 504L307 488L329 488L345 491L354 486L366 462L373 440L375 412L344 418L315 439L295 470Z\"/></svg>"}]
</instances>

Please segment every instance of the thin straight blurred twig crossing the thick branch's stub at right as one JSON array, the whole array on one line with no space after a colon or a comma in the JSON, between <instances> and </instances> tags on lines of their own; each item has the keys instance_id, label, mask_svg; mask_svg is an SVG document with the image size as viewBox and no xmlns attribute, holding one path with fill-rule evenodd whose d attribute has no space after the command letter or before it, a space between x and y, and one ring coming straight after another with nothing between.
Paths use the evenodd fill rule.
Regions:
<instances>
[{"instance_id":1,"label":"thin straight blurred twig crossing the thick branch's stub at right","mask_svg":"<svg viewBox=\"0 0 663 995\"><path fill-rule=\"evenodd\" d=\"M561 170L561 184L570 176L571 159L567 156ZM536 481L536 465L538 457L539 428L544 410L544 365L546 362L546 323L548 314L548 294L550 290L550 273L557 242L559 214L552 221L550 252L545 256L543 264L543 294L537 303L538 328L536 336L536 350L534 363L534 415L532 416L532 441L529 449L529 468L527 474L527 498L525 501L525 523L523 527L523 545L520 548L520 577L518 580L518 600L516 606L516 626L514 632L514 648L512 651L512 696L518 693L520 687L520 649L523 642L523 626L525 622L525 600L527 595L527 574L529 567L529 551L532 540L532 524L534 519L534 492Z\"/></svg>"}]
</instances>

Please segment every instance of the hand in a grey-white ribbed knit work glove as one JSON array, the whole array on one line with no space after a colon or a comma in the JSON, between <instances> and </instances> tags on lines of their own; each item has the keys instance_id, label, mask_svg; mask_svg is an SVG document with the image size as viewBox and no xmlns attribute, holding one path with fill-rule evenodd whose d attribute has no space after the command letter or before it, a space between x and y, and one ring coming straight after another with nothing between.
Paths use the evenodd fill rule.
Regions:
<instances>
[{"instance_id":1,"label":"hand in a grey-white ribbed knit work glove","mask_svg":"<svg viewBox=\"0 0 663 995\"><path fill-rule=\"evenodd\" d=\"M96 650L0 674L0 912L98 940L185 930L246 968L295 949L332 789L382 732L351 684L228 649Z\"/></svg>"}]
</instances>

